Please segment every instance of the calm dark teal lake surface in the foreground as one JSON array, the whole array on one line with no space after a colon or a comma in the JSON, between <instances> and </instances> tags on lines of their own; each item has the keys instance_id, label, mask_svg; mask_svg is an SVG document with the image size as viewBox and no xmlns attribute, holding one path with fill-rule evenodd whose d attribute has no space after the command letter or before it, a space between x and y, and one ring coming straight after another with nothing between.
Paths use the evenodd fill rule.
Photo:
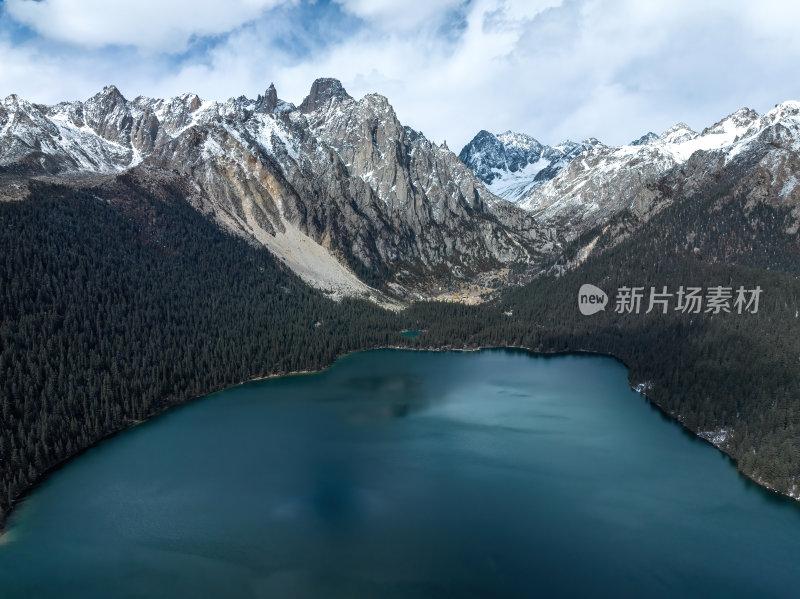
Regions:
<instances>
[{"instance_id":1,"label":"calm dark teal lake surface in the foreground","mask_svg":"<svg viewBox=\"0 0 800 599\"><path fill-rule=\"evenodd\" d=\"M135 427L0 539L0 597L797 597L800 505L603 357L354 354Z\"/></svg>"}]
</instances>

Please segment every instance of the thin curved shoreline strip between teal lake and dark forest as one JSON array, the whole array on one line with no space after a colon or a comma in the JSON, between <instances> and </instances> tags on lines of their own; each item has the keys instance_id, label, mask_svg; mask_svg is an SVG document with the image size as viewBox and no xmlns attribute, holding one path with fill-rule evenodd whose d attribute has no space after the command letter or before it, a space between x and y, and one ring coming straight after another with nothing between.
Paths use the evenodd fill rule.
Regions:
<instances>
[{"instance_id":1,"label":"thin curved shoreline strip between teal lake and dark forest","mask_svg":"<svg viewBox=\"0 0 800 599\"><path fill-rule=\"evenodd\" d=\"M376 346L376 347L368 347L368 348L363 348L363 349L357 349L357 350L353 350L353 351L344 352L344 353L336 356L336 358L334 358L334 360L330 364L328 364L327 366L324 366L324 367L316 369L316 370L296 370L296 371L285 372L285 373L273 373L273 374L268 374L268 375L263 375L263 376L256 376L256 377L253 377L253 378L249 378L249 379L246 379L246 380L239 381L239 382L231 384L231 385L224 385L224 386L221 386L220 388L209 390L209 391L207 391L205 393L201 393L201 394L192 396L192 397L190 397L190 398L188 398L186 400L183 400L181 402L178 402L178 403L166 404L166 405L162 406L160 409L155 410L153 413L148 414L145 418L143 418L141 420L129 421L128 423L126 423L119 430L114 431L114 432L112 432L112 433L110 433L108 435L105 435L104 437L94 441L91 445L82 448L81 450L77 451L73 455L65 458L64 460L58 462L57 464L54 464L53 466L51 466L50 468L45 470L32 484L30 484L28 487L26 487L25 490L22 491L22 493L20 493L19 496L14 499L14 502L11 504L11 506L9 507L7 512L4 514L3 518L0 519L0 545L2 545L3 539L4 539L4 537L6 536L6 534L8 532L7 529L6 529L6 525L7 525L8 521L9 521L10 516L13 514L13 512L16 510L16 508L20 504L22 504L24 502L25 498L28 497L36 488L38 488L39 485L41 485L51 474L53 474L54 472L57 472L58 470L61 470L62 468L67 466L70 462L72 462L73 460L75 460L75 459L79 458L80 456L84 455L89 450L97 447L99 444L101 444L101 443L103 443L105 441L108 441L109 439L112 439L112 438L116 437L117 435L119 435L121 433L124 433L125 431L130 430L130 429L132 429L132 428L134 428L136 426L139 426L141 424L145 424L145 423L147 423L147 422L149 422L149 421L151 421L151 420L153 420L153 419L155 419L155 418L157 418L157 417L159 417L159 416L161 416L161 415L163 415L163 414L165 414L165 413L167 413L167 412L169 412L171 410L174 410L174 409L180 408L182 406L188 405L189 403L194 402L197 399L201 399L203 397L208 397L209 395L213 395L215 393L226 391L228 389L233 389L233 388L236 388L236 387L239 387L239 386L242 386L242 385L246 385L246 384L249 384L249 383L255 383L255 382L259 382L259 381L266 381L266 380L274 379L274 378L319 374L319 373L322 373L322 372L326 372L327 370L330 370L333 367L333 365L336 362L338 362L339 360L341 360L342 358L345 358L347 356L351 356L351 355L354 355L354 354L359 354L359 353L363 353L363 352L369 352L369 351L399 350L399 351L428 351L428 352L444 353L444 352L480 352L480 351L485 351L485 350L504 350L504 349L506 349L506 350L507 349L521 350L521 351L526 352L527 354L530 354L531 357L558 357L558 356L569 356L569 355L602 356L602 357L612 358L612 359L616 360L617 362L622 364L625 367L625 369L630 373L630 367L628 366L628 364L625 363L625 361L622 358L620 358L618 356L615 356L613 354L605 353L605 352L589 350L589 349L581 349L581 348L579 348L579 349L569 349L569 350L543 350L543 349L533 349L533 348L530 348L530 347L527 347L527 346L523 346L523 345L477 346L477 347L455 347L455 346L408 347L408 346L404 346L404 345L381 345L381 346ZM688 428L683 422L681 422L673 414L670 414L661 405L659 405L658 403L653 401L652 398L650 396L648 396L644 391L640 391L640 390L636 389L634 384L631 382L630 378L628 379L628 383L629 383L630 388L631 388L632 391L636 391L637 393L642 395L650 405L652 405L653 407L658 409L658 411L661 414L663 414L664 416L668 417L669 420L671 420L672 422L675 422L675 423L679 424L681 426L681 428L684 431L686 431L688 434L690 434L693 438L708 443L709 445L714 447L716 450L718 450L720 453L722 453L724 456L726 456L732 462L732 465L734 467L736 467L736 471L740 476L744 477L745 479L747 479L748 481L750 481L753 484L757 485L758 487L760 487L760 488L762 488L762 489L764 489L766 491L769 491L770 493L780 497L781 499L785 499L785 500L791 501L792 503L795 503L795 504L800 502L800 497L793 497L793 496L791 496L789 494L777 491L772 486L770 486L769 483L756 480L753 477L751 477L751 476L747 475L746 473L742 472L741 470L739 470L739 468L737 467L736 459L733 458L723 448L715 445L711 440L700 436L697 432L695 432L695 431L691 430L690 428Z\"/></svg>"}]
</instances>

